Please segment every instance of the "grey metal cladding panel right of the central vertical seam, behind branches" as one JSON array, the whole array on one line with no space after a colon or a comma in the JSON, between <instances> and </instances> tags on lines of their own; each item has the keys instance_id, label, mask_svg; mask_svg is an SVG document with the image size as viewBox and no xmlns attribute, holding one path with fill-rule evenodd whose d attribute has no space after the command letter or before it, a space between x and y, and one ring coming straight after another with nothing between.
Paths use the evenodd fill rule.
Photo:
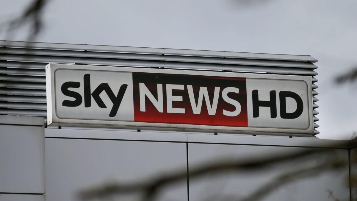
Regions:
<instances>
[{"instance_id":1,"label":"grey metal cladding panel right of the central vertical seam, behind branches","mask_svg":"<svg viewBox=\"0 0 357 201\"><path fill-rule=\"evenodd\" d=\"M257 158L269 158L304 149L308 148L188 143L188 168L194 172L195 168L202 165L208 168L212 164L224 164L228 161L237 161L238 164L252 161L254 164L253 161ZM334 151L339 159L348 160L347 149ZM286 162L272 163L267 167L228 167L224 173L212 171L198 177L188 175L190 200L328 200L326 189L332 191L336 199L349 200L350 192L346 185L348 166L328 171L319 167L319 173L313 173L311 167L326 162L324 160L331 156L330 154L331 152L293 158ZM311 169L303 174L297 173L298 170L306 168ZM293 178L290 182L285 180L289 177ZM265 194L266 191L269 193Z\"/></svg>"}]
</instances>

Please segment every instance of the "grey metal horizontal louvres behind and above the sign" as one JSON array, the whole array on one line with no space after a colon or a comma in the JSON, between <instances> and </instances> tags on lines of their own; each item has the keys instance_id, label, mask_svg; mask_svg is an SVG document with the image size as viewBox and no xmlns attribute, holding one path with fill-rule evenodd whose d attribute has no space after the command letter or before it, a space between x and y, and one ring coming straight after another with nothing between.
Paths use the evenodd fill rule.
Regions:
<instances>
[{"instance_id":1,"label":"grey metal horizontal louvres behind and above the sign","mask_svg":"<svg viewBox=\"0 0 357 201\"><path fill-rule=\"evenodd\" d=\"M316 122L315 62L303 55L0 41L0 114L45 117L45 65L64 63L308 75Z\"/></svg>"}]
</instances>

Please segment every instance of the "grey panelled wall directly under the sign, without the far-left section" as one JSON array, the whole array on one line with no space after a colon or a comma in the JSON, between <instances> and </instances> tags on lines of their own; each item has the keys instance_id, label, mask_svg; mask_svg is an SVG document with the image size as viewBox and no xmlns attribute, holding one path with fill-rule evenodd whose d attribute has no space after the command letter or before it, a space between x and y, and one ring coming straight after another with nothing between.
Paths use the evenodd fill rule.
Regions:
<instances>
[{"instance_id":1,"label":"grey panelled wall directly under the sign, without the far-left section","mask_svg":"<svg viewBox=\"0 0 357 201\"><path fill-rule=\"evenodd\" d=\"M101 185L110 181L131 182L157 177L172 168L185 170L187 142L189 169L225 158L238 161L250 157L264 158L276 153L306 149L294 147L297 145L309 145L306 138L217 136L191 133L187 134L185 142L182 138L184 133L129 132L114 129L79 130L63 129L63 127L62 129L45 129L45 135L49 137L45 141L46 198L48 201L75 200L76 192L95 184ZM70 136L76 139L68 139ZM61 137L67 137L67 139ZM132 141L128 141L130 138ZM138 141L139 139L146 141ZM156 142L159 139L167 142ZM172 142L169 142L171 140ZM308 139L308 141L310 145L323 147L319 139ZM281 144L288 144L292 147ZM348 160L348 149L336 148L335 151L340 158ZM233 195L234 198L247 196L281 173L319 163L324 157L327 156L313 156L307 158L308 160L304 158L302 161L293 160L272 166L267 171L258 169L225 172L220 175L205 175L198 178L189 176L190 200L218 200L221 195ZM348 166L311 175L277 188L263 200L328 200L327 189L332 190L337 198L348 200L347 177ZM187 183L183 181L160 193L162 195L160 194L159 200L187 200Z\"/></svg>"}]
</instances>

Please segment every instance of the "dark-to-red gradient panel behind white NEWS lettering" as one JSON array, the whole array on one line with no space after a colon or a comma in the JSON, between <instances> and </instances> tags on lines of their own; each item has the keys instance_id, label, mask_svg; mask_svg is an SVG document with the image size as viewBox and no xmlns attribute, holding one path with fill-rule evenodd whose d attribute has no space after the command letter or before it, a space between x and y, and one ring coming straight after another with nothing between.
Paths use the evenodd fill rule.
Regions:
<instances>
[{"instance_id":1,"label":"dark-to-red gradient panel behind white NEWS lettering","mask_svg":"<svg viewBox=\"0 0 357 201\"><path fill-rule=\"evenodd\" d=\"M135 122L248 126L246 78L179 74L160 75L155 73L133 73L132 76ZM162 84L162 89L159 87L159 93L162 94L163 98L162 112L158 111L146 95L146 110L145 112L140 111L139 83L144 83L156 100L158 99L157 84ZM176 88L172 89L172 85ZM170 87L172 97L174 97L174 100L170 100L169 96L169 102L172 103L172 108L177 108L178 110L176 111L181 111L182 113L167 112L167 86ZM228 92L226 88L239 89L239 93L235 93L234 91ZM236 104L238 107L240 105L240 113L237 116L231 117L223 115L223 111L234 112L239 109L233 105L234 103L230 104L223 99L222 92L224 89L226 89L226 91L223 94L227 94L228 96L228 98L226 97L225 99L228 100L228 102L238 102L238 104ZM209 112L211 114L209 114Z\"/></svg>"}]
</instances>

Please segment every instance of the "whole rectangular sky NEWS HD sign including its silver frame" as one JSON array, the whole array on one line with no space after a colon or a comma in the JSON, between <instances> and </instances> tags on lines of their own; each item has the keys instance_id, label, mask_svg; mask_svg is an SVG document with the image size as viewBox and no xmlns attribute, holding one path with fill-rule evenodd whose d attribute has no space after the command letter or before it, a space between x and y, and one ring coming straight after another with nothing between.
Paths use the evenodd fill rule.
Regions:
<instances>
[{"instance_id":1,"label":"whole rectangular sky NEWS HD sign including its silver frame","mask_svg":"<svg viewBox=\"0 0 357 201\"><path fill-rule=\"evenodd\" d=\"M311 77L48 64L48 125L313 135Z\"/></svg>"}]
</instances>

